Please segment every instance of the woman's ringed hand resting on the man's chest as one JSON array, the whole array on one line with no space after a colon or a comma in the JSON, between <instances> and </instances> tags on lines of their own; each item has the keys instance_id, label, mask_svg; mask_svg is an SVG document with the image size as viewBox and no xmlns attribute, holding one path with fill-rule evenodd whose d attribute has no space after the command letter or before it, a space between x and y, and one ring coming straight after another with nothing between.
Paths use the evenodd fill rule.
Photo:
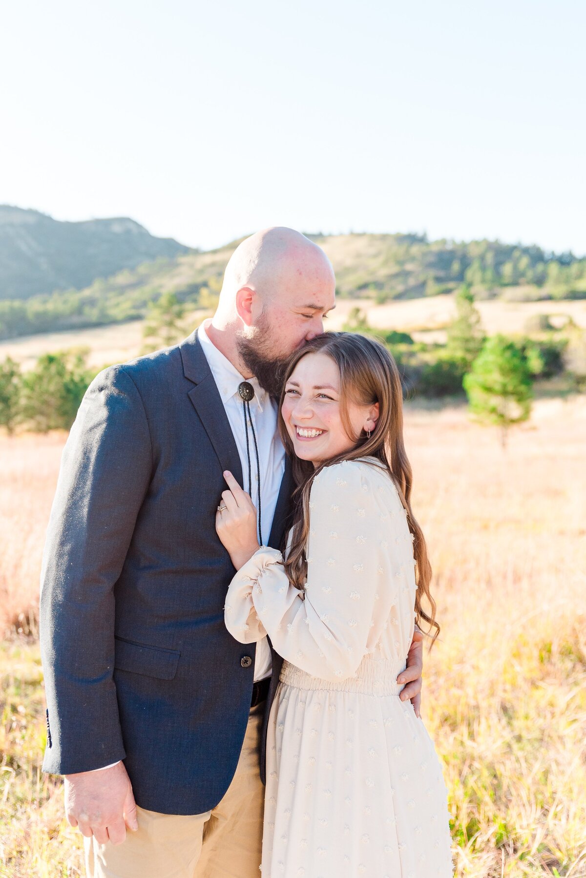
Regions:
<instances>
[{"instance_id":1,"label":"woman's ringed hand resting on the man's chest","mask_svg":"<svg viewBox=\"0 0 586 878\"><path fill-rule=\"evenodd\" d=\"M224 472L228 491L221 495L221 511L215 516L215 529L236 570L239 570L260 548L257 540L257 510L250 495L242 491L234 476Z\"/></svg>"}]
</instances>

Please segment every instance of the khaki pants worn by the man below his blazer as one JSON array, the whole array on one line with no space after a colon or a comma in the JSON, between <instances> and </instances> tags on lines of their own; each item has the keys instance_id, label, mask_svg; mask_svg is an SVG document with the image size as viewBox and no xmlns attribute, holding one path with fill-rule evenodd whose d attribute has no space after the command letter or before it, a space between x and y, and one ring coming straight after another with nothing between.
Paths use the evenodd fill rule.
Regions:
<instances>
[{"instance_id":1,"label":"khaki pants worn by the man below his blazer","mask_svg":"<svg viewBox=\"0 0 586 878\"><path fill-rule=\"evenodd\" d=\"M263 712L264 704L250 711L236 773L216 808L189 817L138 808L138 831L128 831L123 844L84 839L88 878L259 878Z\"/></svg>"}]
</instances>

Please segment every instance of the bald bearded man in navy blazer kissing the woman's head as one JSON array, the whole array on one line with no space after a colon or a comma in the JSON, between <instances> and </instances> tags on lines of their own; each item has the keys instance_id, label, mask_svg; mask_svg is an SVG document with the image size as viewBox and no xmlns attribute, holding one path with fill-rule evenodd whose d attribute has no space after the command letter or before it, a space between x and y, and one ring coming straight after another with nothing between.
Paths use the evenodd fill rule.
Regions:
<instances>
[{"instance_id":1,"label":"bald bearded man in navy blazer kissing the woman's head","mask_svg":"<svg viewBox=\"0 0 586 878\"><path fill-rule=\"evenodd\" d=\"M322 249L267 229L236 248L213 320L105 370L83 399L47 533L41 649L44 768L65 775L90 876L258 874L280 659L226 630L234 568L215 513L230 470L279 546L293 484L274 397L334 306ZM420 674L416 640L402 674L416 710Z\"/></svg>"}]
</instances>

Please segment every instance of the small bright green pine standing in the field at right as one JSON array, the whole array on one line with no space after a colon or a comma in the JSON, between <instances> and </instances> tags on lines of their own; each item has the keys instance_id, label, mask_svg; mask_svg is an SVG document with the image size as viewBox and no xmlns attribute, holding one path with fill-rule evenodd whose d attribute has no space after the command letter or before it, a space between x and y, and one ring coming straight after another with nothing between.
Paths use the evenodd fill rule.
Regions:
<instances>
[{"instance_id":1,"label":"small bright green pine standing in the field at right","mask_svg":"<svg viewBox=\"0 0 586 878\"><path fill-rule=\"evenodd\" d=\"M463 384L470 410L480 421L501 428L505 448L511 425L531 414L532 377L523 351L503 335L491 336Z\"/></svg>"}]
</instances>

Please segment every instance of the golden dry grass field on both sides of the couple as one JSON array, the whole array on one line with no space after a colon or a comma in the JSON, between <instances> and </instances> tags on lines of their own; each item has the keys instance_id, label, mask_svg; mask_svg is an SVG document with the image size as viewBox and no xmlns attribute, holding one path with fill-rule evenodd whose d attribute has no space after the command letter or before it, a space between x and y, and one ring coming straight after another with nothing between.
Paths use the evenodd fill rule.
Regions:
<instances>
[{"instance_id":1,"label":"golden dry grass field on both sides of the couple","mask_svg":"<svg viewBox=\"0 0 586 878\"><path fill-rule=\"evenodd\" d=\"M0 647L0 874L15 878L82 869L59 782L40 774L34 608L63 441L0 436L0 608L13 630ZM456 874L580 878L586 398L536 403L506 452L464 408L410 405L407 443L442 623L426 657L423 716L444 762Z\"/></svg>"}]
</instances>

